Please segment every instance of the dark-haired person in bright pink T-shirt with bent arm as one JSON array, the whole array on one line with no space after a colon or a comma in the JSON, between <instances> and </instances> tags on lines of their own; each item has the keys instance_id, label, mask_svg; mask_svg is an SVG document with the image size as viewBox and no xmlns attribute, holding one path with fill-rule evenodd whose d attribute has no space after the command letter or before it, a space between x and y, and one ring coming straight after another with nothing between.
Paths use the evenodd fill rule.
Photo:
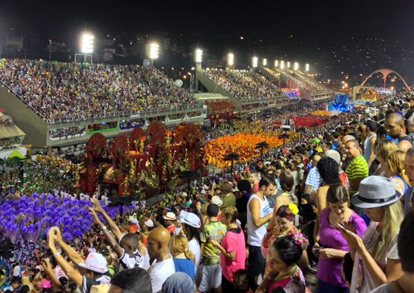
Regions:
<instances>
[{"instance_id":1,"label":"dark-haired person in bright pink T-shirt with bent arm","mask_svg":"<svg viewBox=\"0 0 414 293\"><path fill-rule=\"evenodd\" d=\"M221 252L220 267L221 291L235 292L233 276L237 270L244 270L246 261L246 242L242 229L237 227L237 208L226 207L221 211L221 223L227 226L227 233L221 244L210 239L211 243Z\"/></svg>"}]
</instances>

